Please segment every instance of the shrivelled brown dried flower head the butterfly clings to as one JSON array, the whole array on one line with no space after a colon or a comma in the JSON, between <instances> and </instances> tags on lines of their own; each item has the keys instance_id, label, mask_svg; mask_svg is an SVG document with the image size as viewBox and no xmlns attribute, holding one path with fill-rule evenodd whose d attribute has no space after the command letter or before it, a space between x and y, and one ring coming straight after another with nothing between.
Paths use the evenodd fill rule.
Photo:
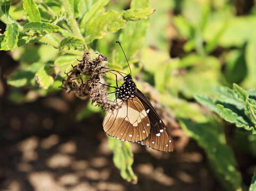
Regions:
<instances>
[{"instance_id":1,"label":"shrivelled brown dried flower head the butterfly clings to","mask_svg":"<svg viewBox=\"0 0 256 191\"><path fill-rule=\"evenodd\" d=\"M67 79L63 80L62 88L67 93L73 91L76 96L83 99L89 96L92 103L101 106L105 110L114 110L121 107L117 102L108 99L106 86L100 84L104 80L108 68L104 65L107 57L104 54L98 54L98 57L92 59L88 50L84 51L82 60L72 66L72 70L67 73ZM83 79L87 79L84 81Z\"/></svg>"}]
</instances>

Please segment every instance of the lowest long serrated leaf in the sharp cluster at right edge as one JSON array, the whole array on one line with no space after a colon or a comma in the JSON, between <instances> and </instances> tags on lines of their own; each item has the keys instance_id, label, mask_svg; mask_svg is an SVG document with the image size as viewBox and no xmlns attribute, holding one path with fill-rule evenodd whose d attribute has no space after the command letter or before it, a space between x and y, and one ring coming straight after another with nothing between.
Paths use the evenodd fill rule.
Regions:
<instances>
[{"instance_id":1,"label":"lowest long serrated leaf in the sharp cluster at right edge","mask_svg":"<svg viewBox=\"0 0 256 191\"><path fill-rule=\"evenodd\" d=\"M223 105L217 105L218 115L228 121L229 123L234 123L237 127L243 127L247 131L252 131L256 134L256 128L249 124L242 116L238 116L231 109L225 108Z\"/></svg>"}]
</instances>

